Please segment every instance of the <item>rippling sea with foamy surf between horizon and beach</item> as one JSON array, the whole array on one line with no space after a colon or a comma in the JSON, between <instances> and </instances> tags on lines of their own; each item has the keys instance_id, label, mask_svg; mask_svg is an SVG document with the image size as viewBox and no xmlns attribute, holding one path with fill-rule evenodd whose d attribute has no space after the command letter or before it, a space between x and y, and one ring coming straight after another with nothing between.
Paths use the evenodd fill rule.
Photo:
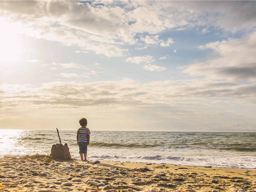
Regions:
<instances>
[{"instance_id":1,"label":"rippling sea with foamy surf between horizon and beach","mask_svg":"<svg viewBox=\"0 0 256 192\"><path fill-rule=\"evenodd\" d=\"M80 159L76 131L60 132L72 158ZM255 132L92 131L88 160L256 169ZM56 130L1 130L0 158L50 155Z\"/></svg>"}]
</instances>

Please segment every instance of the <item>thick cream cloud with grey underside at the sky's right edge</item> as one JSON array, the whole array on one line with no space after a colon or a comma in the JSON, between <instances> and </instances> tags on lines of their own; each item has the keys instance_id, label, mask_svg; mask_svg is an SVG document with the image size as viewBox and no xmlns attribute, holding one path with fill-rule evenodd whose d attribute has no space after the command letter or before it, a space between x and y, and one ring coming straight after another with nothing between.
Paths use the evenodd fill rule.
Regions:
<instances>
[{"instance_id":1,"label":"thick cream cloud with grey underside at the sky's right edge","mask_svg":"<svg viewBox=\"0 0 256 192\"><path fill-rule=\"evenodd\" d=\"M230 81L256 81L256 33L241 39L212 42L199 47L212 54L184 70L197 76Z\"/></svg>"}]
</instances>

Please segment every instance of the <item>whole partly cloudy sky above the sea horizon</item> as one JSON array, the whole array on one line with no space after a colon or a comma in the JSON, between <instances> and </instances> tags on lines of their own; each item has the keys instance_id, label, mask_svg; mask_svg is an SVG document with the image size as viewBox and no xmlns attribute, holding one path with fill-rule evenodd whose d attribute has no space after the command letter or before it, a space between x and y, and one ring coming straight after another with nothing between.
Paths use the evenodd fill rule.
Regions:
<instances>
[{"instance_id":1,"label":"whole partly cloudy sky above the sea horizon","mask_svg":"<svg viewBox=\"0 0 256 192\"><path fill-rule=\"evenodd\" d=\"M256 131L256 1L0 1L0 129Z\"/></svg>"}]
</instances>

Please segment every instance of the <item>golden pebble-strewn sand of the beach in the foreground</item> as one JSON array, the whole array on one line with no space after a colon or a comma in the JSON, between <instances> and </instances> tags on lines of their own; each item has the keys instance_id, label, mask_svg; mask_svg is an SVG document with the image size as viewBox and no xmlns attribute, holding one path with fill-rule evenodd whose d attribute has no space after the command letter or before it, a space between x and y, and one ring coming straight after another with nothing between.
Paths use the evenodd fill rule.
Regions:
<instances>
[{"instance_id":1,"label":"golden pebble-strewn sand of the beach in the foreground","mask_svg":"<svg viewBox=\"0 0 256 192\"><path fill-rule=\"evenodd\" d=\"M0 191L256 191L256 170L128 162L0 159Z\"/></svg>"}]
</instances>

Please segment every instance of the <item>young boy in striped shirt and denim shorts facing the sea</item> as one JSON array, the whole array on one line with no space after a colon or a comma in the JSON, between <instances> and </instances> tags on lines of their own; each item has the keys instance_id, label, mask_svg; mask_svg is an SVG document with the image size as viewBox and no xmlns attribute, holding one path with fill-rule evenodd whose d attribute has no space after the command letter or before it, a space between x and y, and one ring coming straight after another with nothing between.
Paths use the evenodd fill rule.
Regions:
<instances>
[{"instance_id":1,"label":"young boy in striped shirt and denim shorts facing the sea","mask_svg":"<svg viewBox=\"0 0 256 192\"><path fill-rule=\"evenodd\" d=\"M87 120L85 118L81 118L79 120L79 124L82 126L77 130L76 140L79 146L79 153L82 161L87 161L87 145L90 143L90 130L86 127ZM84 157L83 157L84 154Z\"/></svg>"}]
</instances>

